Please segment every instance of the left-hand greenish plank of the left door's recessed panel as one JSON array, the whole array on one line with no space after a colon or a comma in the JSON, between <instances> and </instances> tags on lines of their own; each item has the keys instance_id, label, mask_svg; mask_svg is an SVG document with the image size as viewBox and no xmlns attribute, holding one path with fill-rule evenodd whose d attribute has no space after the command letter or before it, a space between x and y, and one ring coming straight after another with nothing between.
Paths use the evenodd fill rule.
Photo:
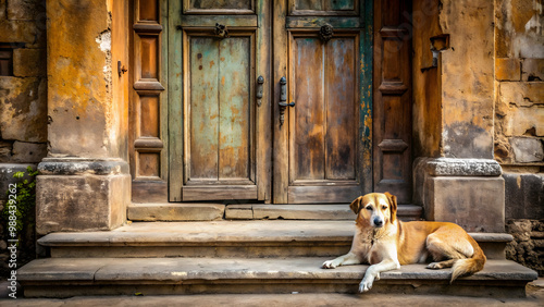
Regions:
<instances>
[{"instance_id":1,"label":"left-hand greenish plank of the left door's recessed panel","mask_svg":"<svg viewBox=\"0 0 544 307\"><path fill-rule=\"evenodd\" d=\"M219 40L191 37L190 177L218 179L219 147Z\"/></svg>"}]
</instances>

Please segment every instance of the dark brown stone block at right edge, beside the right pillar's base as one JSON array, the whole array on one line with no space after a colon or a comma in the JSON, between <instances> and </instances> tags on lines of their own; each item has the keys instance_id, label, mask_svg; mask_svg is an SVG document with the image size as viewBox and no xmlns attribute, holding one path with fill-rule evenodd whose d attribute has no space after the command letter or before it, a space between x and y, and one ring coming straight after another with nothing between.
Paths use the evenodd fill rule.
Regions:
<instances>
[{"instance_id":1,"label":"dark brown stone block at right edge, beside the right pillar's base","mask_svg":"<svg viewBox=\"0 0 544 307\"><path fill-rule=\"evenodd\" d=\"M505 173L506 219L544 219L544 174Z\"/></svg>"}]
</instances>

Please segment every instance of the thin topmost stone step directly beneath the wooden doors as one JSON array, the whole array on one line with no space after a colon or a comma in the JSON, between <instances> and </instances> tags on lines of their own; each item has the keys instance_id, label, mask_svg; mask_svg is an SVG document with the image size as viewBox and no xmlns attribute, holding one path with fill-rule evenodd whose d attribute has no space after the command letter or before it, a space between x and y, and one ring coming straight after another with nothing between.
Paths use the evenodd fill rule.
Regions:
<instances>
[{"instance_id":1,"label":"thin topmost stone step directly beneath the wooden doors","mask_svg":"<svg viewBox=\"0 0 544 307\"><path fill-rule=\"evenodd\" d=\"M398 206L397 214L404 221L419 220L421 213L421 206ZM132 204L127 217L131 221L355 220L348 204Z\"/></svg>"}]
</instances>

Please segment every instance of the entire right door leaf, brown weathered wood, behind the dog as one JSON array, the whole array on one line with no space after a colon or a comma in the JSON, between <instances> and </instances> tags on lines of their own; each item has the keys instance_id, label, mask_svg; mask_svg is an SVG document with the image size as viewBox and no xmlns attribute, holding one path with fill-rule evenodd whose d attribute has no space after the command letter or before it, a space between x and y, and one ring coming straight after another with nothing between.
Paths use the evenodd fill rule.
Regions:
<instances>
[{"instance_id":1,"label":"entire right door leaf, brown weathered wood, behind the dog","mask_svg":"<svg viewBox=\"0 0 544 307\"><path fill-rule=\"evenodd\" d=\"M349 202L371 189L369 8L349 0L274 1L276 204ZM285 102L294 102L284 123L282 77Z\"/></svg>"}]
</instances>

